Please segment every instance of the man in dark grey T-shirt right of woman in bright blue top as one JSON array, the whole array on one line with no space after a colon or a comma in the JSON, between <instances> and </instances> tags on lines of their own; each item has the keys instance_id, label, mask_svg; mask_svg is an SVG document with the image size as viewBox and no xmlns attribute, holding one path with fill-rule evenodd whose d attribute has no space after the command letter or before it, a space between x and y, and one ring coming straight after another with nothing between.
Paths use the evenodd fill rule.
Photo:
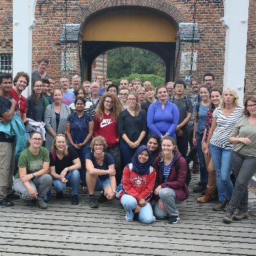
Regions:
<instances>
[{"instance_id":1,"label":"man in dark grey T-shirt right of woman in bright blue top","mask_svg":"<svg viewBox=\"0 0 256 256\"><path fill-rule=\"evenodd\" d=\"M188 153L188 122L193 113L193 106L190 99L184 96L186 83L178 80L174 83L175 96L172 97L172 102L179 109L179 124L176 127L177 146L180 154L186 158Z\"/></svg>"}]
</instances>

